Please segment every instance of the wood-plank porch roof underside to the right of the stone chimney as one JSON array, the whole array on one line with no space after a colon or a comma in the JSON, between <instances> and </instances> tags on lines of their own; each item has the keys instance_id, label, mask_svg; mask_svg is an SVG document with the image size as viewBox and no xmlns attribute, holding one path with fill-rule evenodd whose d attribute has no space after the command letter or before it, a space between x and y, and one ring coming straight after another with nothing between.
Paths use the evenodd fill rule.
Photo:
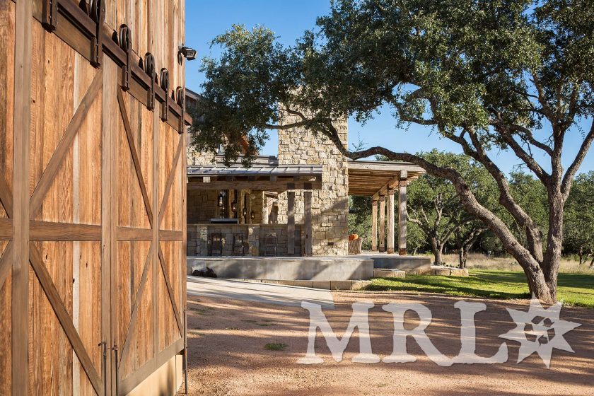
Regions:
<instances>
[{"instance_id":1,"label":"wood-plank porch roof underside to the right of the stone chimney","mask_svg":"<svg viewBox=\"0 0 594 396\"><path fill-rule=\"evenodd\" d=\"M412 163L349 161L349 195L373 197L397 187L401 180L414 180L425 173ZM401 177L402 176L402 177Z\"/></svg>"}]
</instances>

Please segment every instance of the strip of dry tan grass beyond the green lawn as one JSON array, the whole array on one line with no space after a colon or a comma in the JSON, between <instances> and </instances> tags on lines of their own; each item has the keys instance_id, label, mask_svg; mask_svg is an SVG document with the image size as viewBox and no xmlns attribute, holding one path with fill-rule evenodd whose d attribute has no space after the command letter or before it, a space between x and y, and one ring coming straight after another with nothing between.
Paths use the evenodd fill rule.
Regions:
<instances>
[{"instance_id":1,"label":"strip of dry tan grass beyond the green lawn","mask_svg":"<svg viewBox=\"0 0 594 396\"><path fill-rule=\"evenodd\" d=\"M451 266L458 267L458 255L443 255L443 261ZM468 255L467 267L469 269L498 269L501 271L522 271L520 265L511 257L487 257L479 253ZM594 274L594 269L588 269L588 264L580 265L569 257L561 259L559 272Z\"/></svg>"}]
</instances>

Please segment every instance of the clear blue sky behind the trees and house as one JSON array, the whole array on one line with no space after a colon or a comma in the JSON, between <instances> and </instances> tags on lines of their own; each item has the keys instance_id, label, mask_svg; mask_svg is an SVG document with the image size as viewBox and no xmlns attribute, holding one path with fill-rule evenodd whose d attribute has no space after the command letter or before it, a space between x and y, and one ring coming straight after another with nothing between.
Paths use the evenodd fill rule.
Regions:
<instances>
[{"instance_id":1,"label":"clear blue sky behind the trees and house","mask_svg":"<svg viewBox=\"0 0 594 396\"><path fill-rule=\"evenodd\" d=\"M206 55L216 56L216 48L211 49L209 42L220 33L231 28L233 23L242 23L248 28L265 25L279 36L279 41L292 45L304 30L315 25L315 18L324 15L330 9L329 0L188 0L186 1L186 44L198 51L198 57L186 63L186 86L192 91L200 91L204 76L199 73L200 60ZM395 118L389 109L383 109L380 115L365 125L349 120L349 146L359 141L368 146L385 146L393 151L416 153L438 148L442 151L460 152L460 146L447 139L442 139L431 129L411 125L408 129L397 129ZM583 129L589 127L583 123ZM564 165L569 166L581 144L581 132L575 129L566 137ZM264 155L276 155L278 139L270 132L271 139L262 151ZM509 172L520 160L512 153L494 151L494 161ZM543 156L535 152L535 159L542 162ZM546 163L543 163L546 168ZM581 171L594 170L594 153L590 150Z\"/></svg>"}]
</instances>

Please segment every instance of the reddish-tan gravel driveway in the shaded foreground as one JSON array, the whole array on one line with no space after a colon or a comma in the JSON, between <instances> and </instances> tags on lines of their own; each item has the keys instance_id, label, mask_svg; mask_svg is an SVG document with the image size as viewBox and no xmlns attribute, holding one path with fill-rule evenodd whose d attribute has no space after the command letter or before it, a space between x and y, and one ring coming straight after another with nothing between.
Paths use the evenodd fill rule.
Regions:
<instances>
[{"instance_id":1,"label":"reddish-tan gravel driveway in the shaded foreground","mask_svg":"<svg viewBox=\"0 0 594 396\"><path fill-rule=\"evenodd\" d=\"M334 293L335 310L325 310L328 321L342 337L351 317L351 303L371 300L369 323L373 352L381 357L392 352L392 316L381 309L386 303L424 303L433 313L426 333L448 356L460 349L460 314L453 304L458 298L410 293ZM487 304L478 313L477 354L491 356L511 330L505 308L527 310L528 301L502 302L466 298ZM319 365L296 361L307 348L309 315L296 307L269 305L223 298L188 299L190 395L594 395L594 310L563 308L561 319L580 322L565 334L576 351L555 350L551 368L536 355L516 363L517 342L508 342L508 363L440 367L430 361L409 338L414 363L352 363L359 351L357 332L351 337L343 361L336 363L318 332ZM414 315L407 328L416 324ZM269 351L267 343L284 343L284 351Z\"/></svg>"}]
</instances>

